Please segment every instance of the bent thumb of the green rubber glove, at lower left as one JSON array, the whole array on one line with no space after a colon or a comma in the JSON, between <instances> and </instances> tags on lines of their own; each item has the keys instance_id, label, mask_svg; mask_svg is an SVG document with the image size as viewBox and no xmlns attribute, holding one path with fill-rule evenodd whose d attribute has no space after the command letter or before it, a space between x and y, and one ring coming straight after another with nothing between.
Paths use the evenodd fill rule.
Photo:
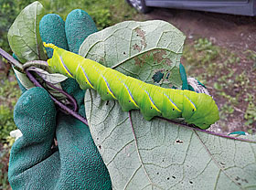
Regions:
<instances>
[{"instance_id":1,"label":"bent thumb of the green rubber glove, at lower left","mask_svg":"<svg viewBox=\"0 0 256 190\"><path fill-rule=\"evenodd\" d=\"M22 137L14 143L9 162L9 176L16 176L46 159L56 128L56 109L48 92L33 88L23 93L16 103L14 121Z\"/></svg>"}]
</instances>

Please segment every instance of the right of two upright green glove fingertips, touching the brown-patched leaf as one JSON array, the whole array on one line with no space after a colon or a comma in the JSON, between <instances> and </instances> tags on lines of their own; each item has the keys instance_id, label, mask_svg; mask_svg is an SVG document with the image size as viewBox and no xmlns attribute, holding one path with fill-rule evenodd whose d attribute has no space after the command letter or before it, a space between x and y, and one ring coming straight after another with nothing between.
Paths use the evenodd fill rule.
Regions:
<instances>
[{"instance_id":1,"label":"right of two upright green glove fingertips, touching the brown-patched leaf","mask_svg":"<svg viewBox=\"0 0 256 190\"><path fill-rule=\"evenodd\" d=\"M91 16L83 10L75 9L67 16L65 31L69 50L79 54L84 39L98 30Z\"/></svg>"}]
</instances>

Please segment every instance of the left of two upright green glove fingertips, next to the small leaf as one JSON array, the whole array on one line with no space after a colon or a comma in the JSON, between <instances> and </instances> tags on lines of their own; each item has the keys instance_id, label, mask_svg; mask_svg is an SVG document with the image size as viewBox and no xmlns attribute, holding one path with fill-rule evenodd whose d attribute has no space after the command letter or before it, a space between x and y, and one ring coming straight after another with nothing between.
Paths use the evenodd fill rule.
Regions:
<instances>
[{"instance_id":1,"label":"left of two upright green glove fingertips, next to the small leaf","mask_svg":"<svg viewBox=\"0 0 256 190\"><path fill-rule=\"evenodd\" d=\"M39 33L46 43L69 50L65 33L65 22L59 15L48 14L43 16L39 23ZM48 58L52 57L53 49L46 47Z\"/></svg>"}]
</instances>

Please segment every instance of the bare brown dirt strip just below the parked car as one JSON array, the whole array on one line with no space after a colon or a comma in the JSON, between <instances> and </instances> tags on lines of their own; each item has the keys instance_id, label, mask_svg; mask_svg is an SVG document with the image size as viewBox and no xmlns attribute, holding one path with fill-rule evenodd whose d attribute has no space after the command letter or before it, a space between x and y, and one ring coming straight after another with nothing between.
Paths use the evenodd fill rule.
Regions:
<instances>
[{"instance_id":1,"label":"bare brown dirt strip just below the parked car","mask_svg":"<svg viewBox=\"0 0 256 190\"><path fill-rule=\"evenodd\" d=\"M256 51L256 16L233 16L189 10L155 8L149 19L170 22L188 39L208 37L215 44L232 50Z\"/></svg>"}]
</instances>

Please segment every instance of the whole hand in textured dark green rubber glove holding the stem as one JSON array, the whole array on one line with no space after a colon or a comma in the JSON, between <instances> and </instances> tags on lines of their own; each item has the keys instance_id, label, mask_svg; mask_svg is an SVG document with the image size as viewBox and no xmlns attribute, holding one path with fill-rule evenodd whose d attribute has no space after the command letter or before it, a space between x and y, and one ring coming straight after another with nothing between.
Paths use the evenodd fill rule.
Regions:
<instances>
[{"instance_id":1,"label":"whole hand in textured dark green rubber glove holding the stem","mask_svg":"<svg viewBox=\"0 0 256 190\"><path fill-rule=\"evenodd\" d=\"M78 53L85 37L96 32L91 17L72 11L66 23L57 15L40 21L42 40ZM48 58L52 52L48 50ZM83 97L74 79L61 84L72 95L85 116ZM112 189L111 179L95 146L89 127L57 111L48 92L41 88L25 91L16 103L16 126L22 136L14 143L8 178L16 189ZM54 137L58 146L53 146Z\"/></svg>"}]
</instances>

